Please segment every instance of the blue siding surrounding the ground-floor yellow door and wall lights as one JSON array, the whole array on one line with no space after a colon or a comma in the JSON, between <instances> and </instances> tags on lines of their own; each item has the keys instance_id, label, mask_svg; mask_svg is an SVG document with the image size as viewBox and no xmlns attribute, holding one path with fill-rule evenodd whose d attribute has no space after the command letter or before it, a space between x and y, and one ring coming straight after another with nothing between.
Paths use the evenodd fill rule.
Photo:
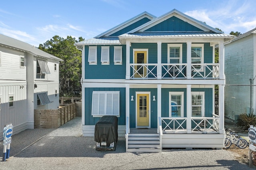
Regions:
<instances>
[{"instance_id":1,"label":"blue siding surrounding the ground-floor yellow door and wall lights","mask_svg":"<svg viewBox=\"0 0 256 170\"><path fill-rule=\"evenodd\" d=\"M150 127L157 128L157 98L153 101L157 88L130 88L130 96L134 96L134 101L130 101L130 127L136 127L136 92L150 92Z\"/></svg>"}]
</instances>

